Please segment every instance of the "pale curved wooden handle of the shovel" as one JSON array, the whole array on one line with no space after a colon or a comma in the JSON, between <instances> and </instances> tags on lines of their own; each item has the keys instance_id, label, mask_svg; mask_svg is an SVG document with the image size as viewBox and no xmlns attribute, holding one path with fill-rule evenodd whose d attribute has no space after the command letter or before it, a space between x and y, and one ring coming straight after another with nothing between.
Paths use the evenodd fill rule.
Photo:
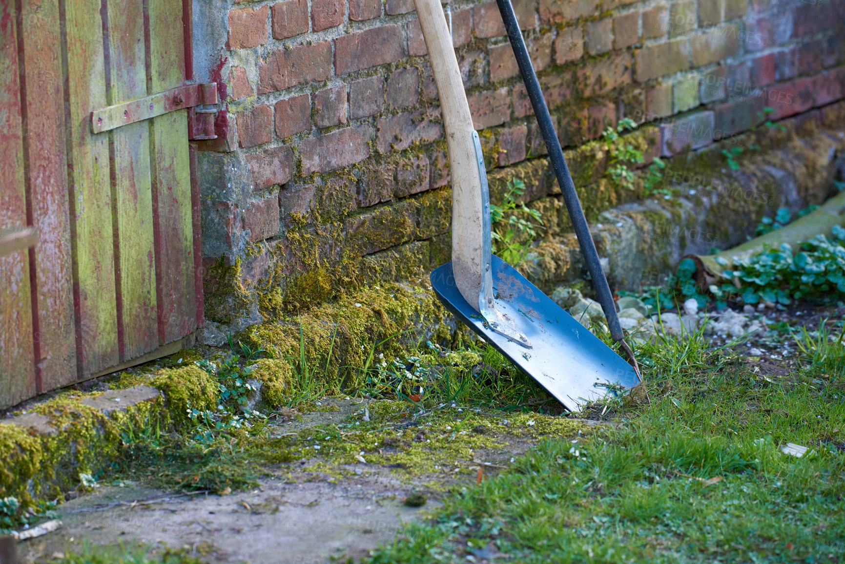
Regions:
<instances>
[{"instance_id":1,"label":"pale curved wooden handle of the shovel","mask_svg":"<svg viewBox=\"0 0 845 564\"><path fill-rule=\"evenodd\" d=\"M439 0L414 0L423 29L449 150L452 177L452 271L461 296L478 309L482 287L481 176L472 140L472 115Z\"/></svg>"}]
</instances>

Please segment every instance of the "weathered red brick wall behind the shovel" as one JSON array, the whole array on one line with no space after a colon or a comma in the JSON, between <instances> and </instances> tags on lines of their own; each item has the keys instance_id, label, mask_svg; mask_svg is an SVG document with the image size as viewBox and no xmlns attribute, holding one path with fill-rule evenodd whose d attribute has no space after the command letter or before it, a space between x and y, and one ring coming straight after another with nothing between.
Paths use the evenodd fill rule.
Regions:
<instances>
[{"instance_id":1,"label":"weathered red brick wall behind the shovel","mask_svg":"<svg viewBox=\"0 0 845 564\"><path fill-rule=\"evenodd\" d=\"M283 295L317 267L354 284L448 260L448 161L412 0L195 5L199 74L226 100L219 139L200 143L206 263L241 257ZM671 156L753 128L763 107L781 119L845 96L845 0L516 0L515 12L576 177L596 163L575 149L623 117L653 122L651 155ZM450 13L488 167L542 158L495 2Z\"/></svg>"}]
</instances>

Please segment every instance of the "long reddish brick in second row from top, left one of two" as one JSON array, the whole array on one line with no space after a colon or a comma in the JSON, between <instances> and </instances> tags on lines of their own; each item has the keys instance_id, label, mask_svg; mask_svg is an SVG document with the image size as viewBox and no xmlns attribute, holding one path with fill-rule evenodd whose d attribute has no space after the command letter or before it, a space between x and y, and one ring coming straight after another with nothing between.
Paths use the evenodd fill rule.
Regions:
<instances>
[{"instance_id":1,"label":"long reddish brick in second row from top, left one of two","mask_svg":"<svg viewBox=\"0 0 845 564\"><path fill-rule=\"evenodd\" d=\"M331 41L276 49L259 59L259 94L331 77Z\"/></svg>"}]
</instances>

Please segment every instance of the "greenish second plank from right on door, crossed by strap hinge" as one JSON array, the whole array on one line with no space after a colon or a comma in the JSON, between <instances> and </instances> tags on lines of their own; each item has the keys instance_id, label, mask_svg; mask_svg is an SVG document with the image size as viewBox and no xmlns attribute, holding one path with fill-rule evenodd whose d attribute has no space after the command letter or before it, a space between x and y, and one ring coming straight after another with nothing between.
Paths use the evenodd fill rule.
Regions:
<instances>
[{"instance_id":1,"label":"greenish second plank from right on door, crossed by strap hinge","mask_svg":"<svg viewBox=\"0 0 845 564\"><path fill-rule=\"evenodd\" d=\"M143 0L105 0L108 104L147 94ZM109 132L117 260L120 359L158 348L155 248L150 180L150 125L129 123Z\"/></svg>"}]
</instances>

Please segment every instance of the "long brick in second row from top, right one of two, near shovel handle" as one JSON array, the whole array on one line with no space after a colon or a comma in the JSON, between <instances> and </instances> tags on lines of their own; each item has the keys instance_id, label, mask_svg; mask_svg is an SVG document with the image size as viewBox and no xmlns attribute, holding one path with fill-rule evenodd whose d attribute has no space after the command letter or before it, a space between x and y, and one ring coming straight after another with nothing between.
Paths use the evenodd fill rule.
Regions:
<instances>
[{"instance_id":1,"label":"long brick in second row from top, right one of two, near shovel handle","mask_svg":"<svg viewBox=\"0 0 845 564\"><path fill-rule=\"evenodd\" d=\"M335 39L335 73L394 63L405 57L405 38L399 25L382 25Z\"/></svg>"}]
</instances>

